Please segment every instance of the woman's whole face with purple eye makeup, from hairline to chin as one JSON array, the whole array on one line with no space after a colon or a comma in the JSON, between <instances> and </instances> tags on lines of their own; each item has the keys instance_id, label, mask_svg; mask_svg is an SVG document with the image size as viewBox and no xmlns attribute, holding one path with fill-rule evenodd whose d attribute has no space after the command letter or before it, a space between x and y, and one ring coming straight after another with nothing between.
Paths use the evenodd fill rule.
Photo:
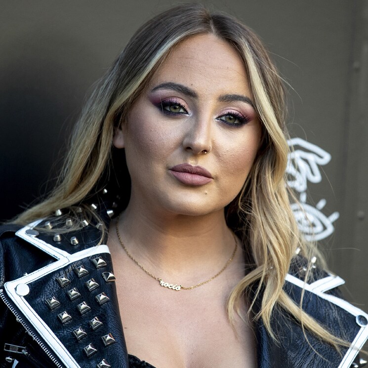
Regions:
<instances>
[{"instance_id":1,"label":"woman's whole face with purple eye makeup, from hairline to chin","mask_svg":"<svg viewBox=\"0 0 368 368\"><path fill-rule=\"evenodd\" d=\"M114 135L125 148L129 205L184 215L222 210L241 191L260 140L237 52L214 35L182 41Z\"/></svg>"}]
</instances>

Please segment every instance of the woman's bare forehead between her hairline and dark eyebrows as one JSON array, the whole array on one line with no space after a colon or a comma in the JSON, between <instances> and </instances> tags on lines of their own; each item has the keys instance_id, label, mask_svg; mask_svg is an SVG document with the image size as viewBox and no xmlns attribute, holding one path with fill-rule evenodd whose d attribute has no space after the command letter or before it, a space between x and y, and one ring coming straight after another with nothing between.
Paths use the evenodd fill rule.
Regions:
<instances>
[{"instance_id":1,"label":"woman's bare forehead between her hairline and dark eyebrows","mask_svg":"<svg viewBox=\"0 0 368 368\"><path fill-rule=\"evenodd\" d=\"M176 45L150 84L162 82L203 92L251 94L243 60L233 46L212 34L192 36Z\"/></svg>"}]
</instances>

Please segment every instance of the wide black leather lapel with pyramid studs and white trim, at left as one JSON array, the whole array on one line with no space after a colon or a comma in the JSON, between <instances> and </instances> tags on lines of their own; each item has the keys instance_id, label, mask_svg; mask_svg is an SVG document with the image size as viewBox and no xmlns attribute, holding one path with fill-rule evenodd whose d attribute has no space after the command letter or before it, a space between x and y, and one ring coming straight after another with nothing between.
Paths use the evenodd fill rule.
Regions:
<instances>
[{"instance_id":1,"label":"wide black leather lapel with pyramid studs and white trim, at left","mask_svg":"<svg viewBox=\"0 0 368 368\"><path fill-rule=\"evenodd\" d=\"M4 284L25 324L65 367L87 363L128 367L107 245L81 242L78 251L69 253L42 239L36 225L40 224L26 226L16 235L54 257L55 262Z\"/></svg>"}]
</instances>

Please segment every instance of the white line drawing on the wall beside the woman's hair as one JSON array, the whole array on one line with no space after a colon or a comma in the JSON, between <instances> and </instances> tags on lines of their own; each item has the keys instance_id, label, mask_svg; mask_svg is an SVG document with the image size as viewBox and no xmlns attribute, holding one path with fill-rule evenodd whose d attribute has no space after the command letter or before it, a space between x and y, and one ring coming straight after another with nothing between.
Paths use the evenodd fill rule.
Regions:
<instances>
[{"instance_id":1,"label":"white line drawing on the wall beside the woman's hair","mask_svg":"<svg viewBox=\"0 0 368 368\"><path fill-rule=\"evenodd\" d=\"M307 204L306 190L308 182L322 181L320 166L328 164L331 155L301 138L289 139L287 143L292 149L287 158L287 184L300 195L300 204L291 204L298 227L307 241L325 239L334 232L333 222L339 218L339 213L326 216L322 212L325 199L321 199L316 206Z\"/></svg>"}]
</instances>

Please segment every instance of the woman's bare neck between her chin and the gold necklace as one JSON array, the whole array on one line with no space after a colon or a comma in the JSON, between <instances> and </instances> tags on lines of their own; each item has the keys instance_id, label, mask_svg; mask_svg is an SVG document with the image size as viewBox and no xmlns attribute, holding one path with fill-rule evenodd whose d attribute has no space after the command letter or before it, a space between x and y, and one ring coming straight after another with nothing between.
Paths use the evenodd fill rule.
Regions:
<instances>
[{"instance_id":1,"label":"woman's bare neck between her chin and the gold necklace","mask_svg":"<svg viewBox=\"0 0 368 368\"><path fill-rule=\"evenodd\" d=\"M163 279L189 275L187 282L191 282L193 275L193 281L198 282L199 277L206 278L221 269L235 248L223 209L187 216L152 214L128 207L118 226L131 255Z\"/></svg>"}]
</instances>

